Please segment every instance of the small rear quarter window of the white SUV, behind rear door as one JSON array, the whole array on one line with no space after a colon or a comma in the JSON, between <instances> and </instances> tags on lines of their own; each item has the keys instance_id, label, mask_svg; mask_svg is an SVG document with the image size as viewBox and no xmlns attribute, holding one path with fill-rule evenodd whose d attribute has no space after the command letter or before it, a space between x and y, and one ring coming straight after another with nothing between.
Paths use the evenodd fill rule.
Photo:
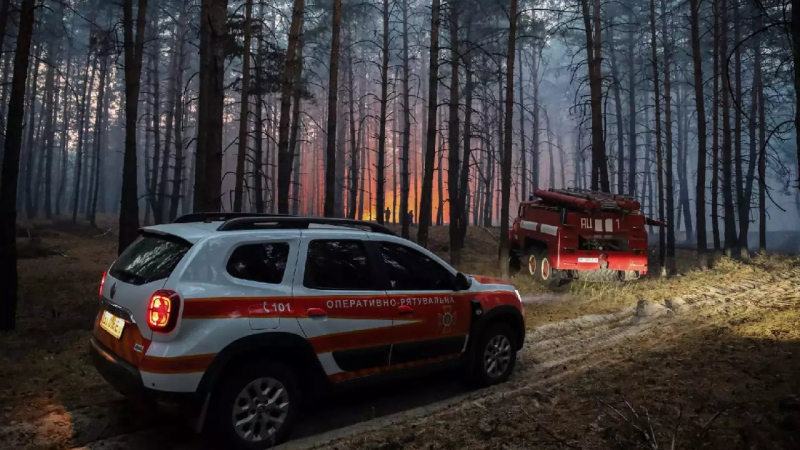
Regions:
<instances>
[{"instance_id":1,"label":"small rear quarter window of the white SUV, behind rear door","mask_svg":"<svg viewBox=\"0 0 800 450\"><path fill-rule=\"evenodd\" d=\"M269 242L237 247L228 259L228 273L242 280L280 284L289 259L289 244Z\"/></svg>"}]
</instances>

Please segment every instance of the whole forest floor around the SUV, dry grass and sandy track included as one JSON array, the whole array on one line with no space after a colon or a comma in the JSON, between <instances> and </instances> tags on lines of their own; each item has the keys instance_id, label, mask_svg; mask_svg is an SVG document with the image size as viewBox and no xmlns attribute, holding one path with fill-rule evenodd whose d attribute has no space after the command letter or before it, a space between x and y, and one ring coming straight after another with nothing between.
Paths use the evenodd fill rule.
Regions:
<instances>
[{"instance_id":1,"label":"whole forest floor around the SUV, dry grass and sandy track included","mask_svg":"<svg viewBox=\"0 0 800 450\"><path fill-rule=\"evenodd\" d=\"M20 227L18 330L0 334L0 448L213 448L143 410L92 367L87 342L111 224ZM471 227L467 273L496 275L497 230ZM446 258L447 229L431 232ZM512 280L526 345L500 386L442 374L321 399L288 448L800 448L800 259L715 258L699 270L546 292ZM638 307L637 307L638 303Z\"/></svg>"}]
</instances>

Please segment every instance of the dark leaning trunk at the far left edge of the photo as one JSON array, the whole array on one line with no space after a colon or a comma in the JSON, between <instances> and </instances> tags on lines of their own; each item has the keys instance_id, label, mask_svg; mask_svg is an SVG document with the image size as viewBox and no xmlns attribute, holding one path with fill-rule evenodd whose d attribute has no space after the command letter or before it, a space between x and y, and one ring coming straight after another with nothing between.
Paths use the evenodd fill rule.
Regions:
<instances>
[{"instance_id":1,"label":"dark leaning trunk at the far left edge of the photo","mask_svg":"<svg viewBox=\"0 0 800 450\"><path fill-rule=\"evenodd\" d=\"M22 0L19 34L14 54L14 75L8 101L8 121L3 151L3 178L0 184L0 330L12 331L17 317L17 181L22 146L22 120L25 111L25 81L28 77L34 0Z\"/></svg>"}]
</instances>

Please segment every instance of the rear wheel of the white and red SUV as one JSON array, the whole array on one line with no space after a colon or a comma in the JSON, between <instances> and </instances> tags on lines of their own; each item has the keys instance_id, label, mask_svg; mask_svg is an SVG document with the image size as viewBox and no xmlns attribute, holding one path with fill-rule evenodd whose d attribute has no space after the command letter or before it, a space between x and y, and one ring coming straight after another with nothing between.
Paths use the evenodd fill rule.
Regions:
<instances>
[{"instance_id":1,"label":"rear wheel of the white and red SUV","mask_svg":"<svg viewBox=\"0 0 800 450\"><path fill-rule=\"evenodd\" d=\"M277 362L255 362L228 377L216 402L220 438L234 448L255 450L286 440L300 406L291 369Z\"/></svg>"}]
</instances>

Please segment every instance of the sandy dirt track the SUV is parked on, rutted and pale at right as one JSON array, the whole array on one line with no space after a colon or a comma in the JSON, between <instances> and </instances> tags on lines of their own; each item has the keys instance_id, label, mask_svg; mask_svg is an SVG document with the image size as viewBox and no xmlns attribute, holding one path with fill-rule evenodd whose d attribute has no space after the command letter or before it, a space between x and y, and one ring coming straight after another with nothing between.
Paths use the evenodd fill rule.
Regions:
<instances>
[{"instance_id":1,"label":"sandy dirt track the SUV is parked on, rutted and pale at right","mask_svg":"<svg viewBox=\"0 0 800 450\"><path fill-rule=\"evenodd\" d=\"M489 421L488 429L479 424L477 431L466 435L458 431L458 425L450 433L439 431L476 413L479 417L492 417L498 408L508 408L507 399L526 398L530 407L536 408L539 403L548 402L548 389L562 383L570 386L574 382L570 379L576 375L630 362L641 353L669 348L682 337L740 320L737 317L764 308L796 305L798 297L800 271L792 268L772 274L771 279L741 280L669 299L671 309L640 305L614 314L544 325L529 331L526 346L518 356L517 371L504 385L470 391L453 382L452 374L446 374L355 396L332 397L315 405L313 414L301 418L295 440L283 447L381 448L381 443L393 442L400 447L386 448L421 448L431 442L421 442L423 436L436 439L437 447L447 447L447 440L454 448L480 446L469 433L477 433L478 439L490 439L500 425ZM529 414L524 406L521 413ZM0 427L0 447L210 448L188 426L175 427L177 420L174 415L137 410L120 398L90 402L72 410L54 406L35 420ZM537 430L551 433L542 420ZM405 430L416 431L409 435ZM503 437L504 442L510 442L509 448L524 447L519 439L513 433ZM553 439L556 447L560 445L558 439Z\"/></svg>"}]
</instances>

